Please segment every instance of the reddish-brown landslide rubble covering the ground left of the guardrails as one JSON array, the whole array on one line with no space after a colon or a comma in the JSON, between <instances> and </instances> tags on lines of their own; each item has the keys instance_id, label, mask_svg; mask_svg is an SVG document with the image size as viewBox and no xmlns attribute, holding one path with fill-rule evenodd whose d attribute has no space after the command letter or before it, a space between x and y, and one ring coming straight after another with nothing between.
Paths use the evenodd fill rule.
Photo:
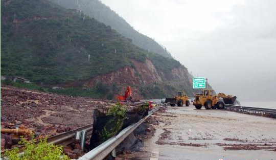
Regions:
<instances>
[{"instance_id":1,"label":"reddish-brown landslide rubble covering the ground left of the guardrails","mask_svg":"<svg viewBox=\"0 0 276 160\"><path fill-rule=\"evenodd\" d=\"M62 96L2 85L1 128L24 126L33 130L36 138L45 138L93 124L94 109L105 111L115 103L112 100ZM127 110L133 110L139 108L141 102L124 105ZM17 147L19 136L1 133L1 150ZM28 140L31 137L25 135L25 138Z\"/></svg>"}]
</instances>

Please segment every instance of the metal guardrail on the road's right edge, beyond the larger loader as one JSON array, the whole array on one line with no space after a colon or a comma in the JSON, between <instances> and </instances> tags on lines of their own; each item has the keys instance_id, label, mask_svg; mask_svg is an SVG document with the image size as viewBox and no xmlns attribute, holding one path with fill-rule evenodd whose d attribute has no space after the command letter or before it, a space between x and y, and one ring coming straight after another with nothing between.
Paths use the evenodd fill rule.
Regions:
<instances>
[{"instance_id":1,"label":"metal guardrail on the road's right edge, beyond the larger loader","mask_svg":"<svg viewBox=\"0 0 276 160\"><path fill-rule=\"evenodd\" d=\"M235 110L239 112L246 112L249 114L276 118L276 109L247 107L247 106L239 106L239 105L232 105L232 104L225 104L224 106L225 106L225 109L227 110Z\"/></svg>"}]
</instances>

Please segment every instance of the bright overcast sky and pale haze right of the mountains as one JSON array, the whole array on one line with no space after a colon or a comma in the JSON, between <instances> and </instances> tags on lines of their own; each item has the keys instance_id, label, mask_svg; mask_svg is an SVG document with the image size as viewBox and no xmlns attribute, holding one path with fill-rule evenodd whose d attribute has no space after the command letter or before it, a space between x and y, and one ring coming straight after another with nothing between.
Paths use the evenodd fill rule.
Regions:
<instances>
[{"instance_id":1,"label":"bright overcast sky and pale haze right of the mountains","mask_svg":"<svg viewBox=\"0 0 276 160\"><path fill-rule=\"evenodd\" d=\"M276 1L102 0L217 93L276 101Z\"/></svg>"}]
</instances>

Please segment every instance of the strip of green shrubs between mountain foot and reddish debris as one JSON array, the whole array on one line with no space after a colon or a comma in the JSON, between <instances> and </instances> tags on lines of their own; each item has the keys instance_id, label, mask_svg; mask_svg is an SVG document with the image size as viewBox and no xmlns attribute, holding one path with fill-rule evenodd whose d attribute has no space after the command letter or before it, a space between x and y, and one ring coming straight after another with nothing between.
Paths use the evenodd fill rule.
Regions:
<instances>
[{"instance_id":1,"label":"strip of green shrubs between mountain foot and reddish debris","mask_svg":"<svg viewBox=\"0 0 276 160\"><path fill-rule=\"evenodd\" d=\"M96 99L114 99L115 95L120 93L122 86L112 84L106 85L103 83L98 83L94 88L86 88L83 89L81 87L67 87L67 88L57 88L53 89L51 87L42 87L35 83L24 83L24 82L13 82L9 79L2 80L2 84L15 86L18 88L27 88L31 90L39 90L40 92L49 92L55 93L58 95L68 95L74 97L91 97ZM136 86L139 88L140 94L143 96L143 99L154 99L154 98L164 98L164 97L172 97L176 94L176 88L167 83L150 83L142 86ZM181 88L187 88L186 86L182 86ZM181 89L179 89L181 90ZM183 90L183 89L182 89ZM192 91L191 91L192 92Z\"/></svg>"}]
</instances>

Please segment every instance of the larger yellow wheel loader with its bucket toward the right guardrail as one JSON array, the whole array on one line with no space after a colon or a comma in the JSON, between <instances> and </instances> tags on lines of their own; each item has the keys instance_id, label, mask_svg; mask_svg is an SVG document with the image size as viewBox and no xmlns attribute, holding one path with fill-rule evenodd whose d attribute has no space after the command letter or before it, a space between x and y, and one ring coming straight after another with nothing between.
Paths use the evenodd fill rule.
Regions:
<instances>
[{"instance_id":1,"label":"larger yellow wheel loader with its bucket toward the right guardrail","mask_svg":"<svg viewBox=\"0 0 276 160\"><path fill-rule=\"evenodd\" d=\"M236 96L226 96L223 93L214 95L213 92L214 90L206 89L202 90L202 94L196 94L193 102L196 109L201 109L202 106L204 106L205 109L223 109L224 104L233 104L237 99Z\"/></svg>"}]
</instances>

